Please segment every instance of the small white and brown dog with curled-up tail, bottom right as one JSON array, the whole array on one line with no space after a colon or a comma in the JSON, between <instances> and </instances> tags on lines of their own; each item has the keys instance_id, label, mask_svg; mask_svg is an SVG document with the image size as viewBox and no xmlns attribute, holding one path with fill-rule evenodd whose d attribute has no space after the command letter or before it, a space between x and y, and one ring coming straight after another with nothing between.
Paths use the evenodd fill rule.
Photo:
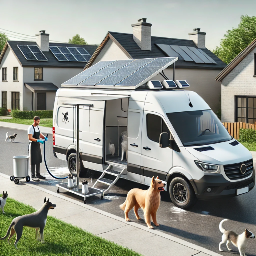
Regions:
<instances>
[{"instance_id":1,"label":"small white and brown dog with curled-up tail, bottom right","mask_svg":"<svg viewBox=\"0 0 256 256\"><path fill-rule=\"evenodd\" d=\"M238 248L240 256L246 256L245 247L247 246L248 240L249 238L255 238L255 236L247 228L245 228L245 231L240 235L236 234L236 232L234 231L226 230L222 226L223 222L225 221L227 221L227 219L221 220L219 225L220 232L223 233L222 241L219 244L220 252L223 252L223 250L221 250L220 248L221 244L227 243L226 245L228 247L228 244L231 242ZM232 250L228 247L228 251L232 251Z\"/></svg>"}]
</instances>

